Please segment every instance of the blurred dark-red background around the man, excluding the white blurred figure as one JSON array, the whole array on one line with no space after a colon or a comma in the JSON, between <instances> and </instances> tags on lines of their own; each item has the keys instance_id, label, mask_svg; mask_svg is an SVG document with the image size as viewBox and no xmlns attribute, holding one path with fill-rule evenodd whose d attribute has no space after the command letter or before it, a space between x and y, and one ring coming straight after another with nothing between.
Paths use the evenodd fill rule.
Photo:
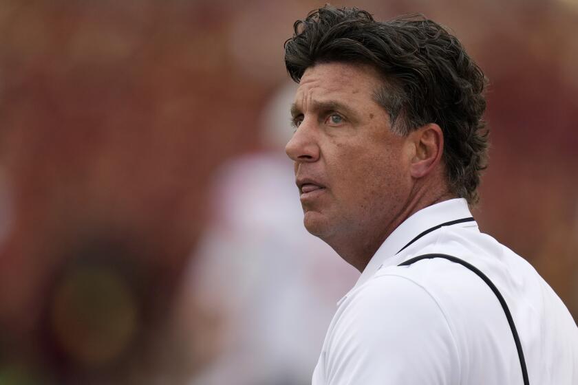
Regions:
<instances>
[{"instance_id":1,"label":"blurred dark-red background around the man, excluding the white blurred figure","mask_svg":"<svg viewBox=\"0 0 578 385\"><path fill-rule=\"evenodd\" d=\"M1 0L0 382L180 383L222 353L226 320L182 271L319 5ZM476 216L578 317L576 2L356 5L451 26L486 71Z\"/></svg>"}]
</instances>

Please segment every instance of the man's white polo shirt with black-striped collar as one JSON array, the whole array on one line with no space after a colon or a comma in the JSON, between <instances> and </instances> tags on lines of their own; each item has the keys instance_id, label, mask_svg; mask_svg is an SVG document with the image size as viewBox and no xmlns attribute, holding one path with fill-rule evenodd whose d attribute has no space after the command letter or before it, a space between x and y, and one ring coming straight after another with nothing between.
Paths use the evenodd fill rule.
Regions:
<instances>
[{"instance_id":1,"label":"man's white polo shirt with black-striped collar","mask_svg":"<svg viewBox=\"0 0 578 385\"><path fill-rule=\"evenodd\" d=\"M445 259L398 267L423 254L456 256L490 278L513 316L530 384L578 384L578 328L566 306L529 263L478 230L464 199L451 199L396 228L339 301L313 385L524 384L489 286Z\"/></svg>"}]
</instances>

